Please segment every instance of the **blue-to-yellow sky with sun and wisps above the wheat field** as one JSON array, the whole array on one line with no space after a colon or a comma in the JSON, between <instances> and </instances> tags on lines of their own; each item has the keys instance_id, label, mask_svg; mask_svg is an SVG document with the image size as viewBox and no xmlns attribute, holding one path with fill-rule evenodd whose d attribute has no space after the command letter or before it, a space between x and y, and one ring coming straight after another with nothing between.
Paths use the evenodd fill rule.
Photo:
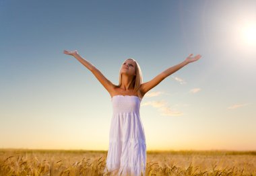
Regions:
<instances>
[{"instance_id":1,"label":"blue-to-yellow sky with sun and wisps above the wheat field","mask_svg":"<svg viewBox=\"0 0 256 176\"><path fill-rule=\"evenodd\" d=\"M110 94L201 54L140 105L147 150L256 150L256 1L0 1L0 148L108 150Z\"/></svg>"}]
</instances>

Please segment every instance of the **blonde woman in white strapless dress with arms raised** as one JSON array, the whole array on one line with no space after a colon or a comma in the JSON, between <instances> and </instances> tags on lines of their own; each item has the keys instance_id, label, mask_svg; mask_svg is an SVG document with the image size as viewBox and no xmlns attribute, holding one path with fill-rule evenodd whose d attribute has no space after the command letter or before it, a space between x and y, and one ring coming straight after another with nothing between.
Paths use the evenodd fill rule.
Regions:
<instances>
[{"instance_id":1,"label":"blonde woman in white strapless dress with arms raised","mask_svg":"<svg viewBox=\"0 0 256 176\"><path fill-rule=\"evenodd\" d=\"M133 58L125 60L119 71L119 85L114 85L88 60L79 56L77 50L65 54L74 56L89 69L111 96L113 117L109 132L109 147L106 157L105 173L114 175L145 175L146 138L139 116L140 102L143 96L163 79L178 71L186 64L201 58L201 55L189 56L180 64L170 67L142 83L139 64Z\"/></svg>"}]
</instances>

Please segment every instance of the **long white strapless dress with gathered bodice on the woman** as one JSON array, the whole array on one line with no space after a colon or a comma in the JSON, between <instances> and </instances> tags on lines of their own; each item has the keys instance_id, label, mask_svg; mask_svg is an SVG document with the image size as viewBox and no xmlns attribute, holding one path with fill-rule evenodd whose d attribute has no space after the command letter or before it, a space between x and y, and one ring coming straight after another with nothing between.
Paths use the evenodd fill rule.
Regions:
<instances>
[{"instance_id":1,"label":"long white strapless dress with gathered bodice on the woman","mask_svg":"<svg viewBox=\"0 0 256 176\"><path fill-rule=\"evenodd\" d=\"M145 175L146 138L139 116L141 99L135 95L114 95L113 117L104 171L115 175Z\"/></svg>"}]
</instances>

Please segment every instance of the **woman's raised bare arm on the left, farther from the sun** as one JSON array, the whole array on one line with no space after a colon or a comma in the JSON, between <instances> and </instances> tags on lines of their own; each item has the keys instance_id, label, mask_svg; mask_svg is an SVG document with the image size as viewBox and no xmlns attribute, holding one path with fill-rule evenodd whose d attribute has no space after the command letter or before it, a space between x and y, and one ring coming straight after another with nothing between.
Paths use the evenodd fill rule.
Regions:
<instances>
[{"instance_id":1,"label":"woman's raised bare arm on the left, farther from the sun","mask_svg":"<svg viewBox=\"0 0 256 176\"><path fill-rule=\"evenodd\" d=\"M67 51L64 50L63 51L65 54L69 54L71 56L74 56L79 62L81 62L87 69L89 69L94 76L96 77L96 79L98 79L98 81L100 81L100 83L105 87L105 89L110 92L111 90L113 90L114 86L113 83L111 81L109 81L108 79L106 79L106 77L104 77L104 75L93 65L91 64L88 60L82 58L82 56L79 56L77 50L75 51Z\"/></svg>"}]
</instances>

